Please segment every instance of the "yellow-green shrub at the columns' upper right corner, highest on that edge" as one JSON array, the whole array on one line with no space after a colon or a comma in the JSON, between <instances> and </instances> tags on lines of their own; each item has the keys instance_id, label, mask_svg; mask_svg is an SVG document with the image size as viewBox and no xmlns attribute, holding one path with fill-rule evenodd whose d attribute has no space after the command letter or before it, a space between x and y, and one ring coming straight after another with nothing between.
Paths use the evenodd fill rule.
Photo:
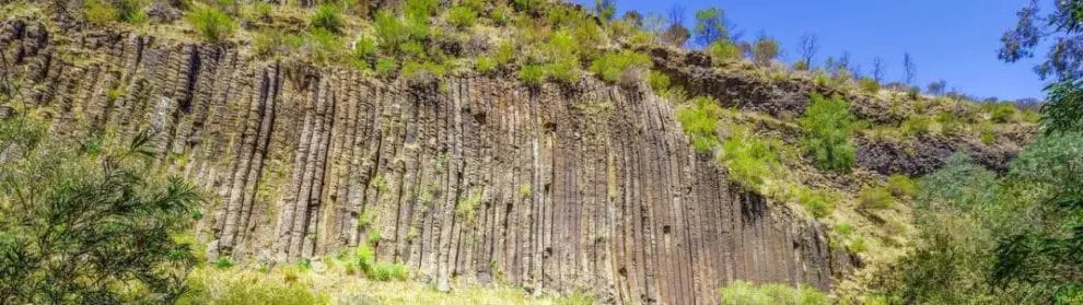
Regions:
<instances>
[{"instance_id":1,"label":"yellow-green shrub at the columns' upper right corner, highest on that edge","mask_svg":"<svg viewBox=\"0 0 1083 305\"><path fill-rule=\"evenodd\" d=\"M677 108L677 121L691 138L691 144L701 153L711 152L718 146L719 139L714 133L719 114L722 107L714 97L699 96Z\"/></svg>"}]
</instances>

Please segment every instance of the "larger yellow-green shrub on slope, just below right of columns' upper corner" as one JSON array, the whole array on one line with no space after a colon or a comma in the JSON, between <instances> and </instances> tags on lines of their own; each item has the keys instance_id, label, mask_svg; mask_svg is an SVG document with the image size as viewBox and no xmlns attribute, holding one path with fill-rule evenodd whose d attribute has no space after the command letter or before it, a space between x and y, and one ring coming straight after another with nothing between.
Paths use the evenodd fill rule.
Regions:
<instances>
[{"instance_id":1,"label":"larger yellow-green shrub on slope, just below right of columns' upper corner","mask_svg":"<svg viewBox=\"0 0 1083 305\"><path fill-rule=\"evenodd\" d=\"M722 143L719 156L730 173L730 178L748 190L758 191L764 181L772 176L779 166L778 153L772 143L761 140L746 128L732 129L730 138Z\"/></svg>"}]
</instances>

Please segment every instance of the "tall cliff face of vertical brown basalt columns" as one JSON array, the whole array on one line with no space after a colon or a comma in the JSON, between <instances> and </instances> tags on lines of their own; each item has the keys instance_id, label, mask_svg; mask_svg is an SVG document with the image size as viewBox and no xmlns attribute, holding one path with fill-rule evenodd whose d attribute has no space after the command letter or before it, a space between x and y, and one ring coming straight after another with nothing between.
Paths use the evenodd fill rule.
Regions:
<instances>
[{"instance_id":1,"label":"tall cliff face of vertical brown basalt columns","mask_svg":"<svg viewBox=\"0 0 1083 305\"><path fill-rule=\"evenodd\" d=\"M49 109L57 134L158 131L163 164L214 191L198 224L212 256L292 261L368 244L438 286L667 304L717 303L734 280L829 290L849 268L818 223L696 154L669 103L644 90L385 83L230 46L66 38L4 22L2 90Z\"/></svg>"}]
</instances>

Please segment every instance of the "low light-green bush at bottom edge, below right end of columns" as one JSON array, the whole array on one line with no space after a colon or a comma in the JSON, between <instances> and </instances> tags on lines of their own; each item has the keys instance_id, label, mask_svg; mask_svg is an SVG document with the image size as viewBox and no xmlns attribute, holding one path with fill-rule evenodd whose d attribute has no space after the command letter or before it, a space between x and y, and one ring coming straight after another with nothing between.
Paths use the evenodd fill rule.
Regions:
<instances>
[{"instance_id":1,"label":"low light-green bush at bottom edge, below right end of columns","mask_svg":"<svg viewBox=\"0 0 1083 305\"><path fill-rule=\"evenodd\" d=\"M765 283L754 285L735 281L721 290L719 297L724 305L826 305L831 304L827 294L810 286L793 288L787 284Z\"/></svg>"}]
</instances>

